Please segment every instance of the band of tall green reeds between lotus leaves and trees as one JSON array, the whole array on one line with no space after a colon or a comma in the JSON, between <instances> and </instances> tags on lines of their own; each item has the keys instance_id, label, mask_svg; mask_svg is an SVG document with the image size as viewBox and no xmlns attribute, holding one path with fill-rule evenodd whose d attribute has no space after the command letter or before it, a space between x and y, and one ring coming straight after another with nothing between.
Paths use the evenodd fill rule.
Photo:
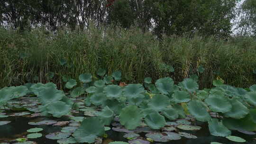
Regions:
<instances>
[{"instance_id":1,"label":"band of tall green reeds between lotus leaves and trees","mask_svg":"<svg viewBox=\"0 0 256 144\"><path fill-rule=\"evenodd\" d=\"M81 73L95 73L99 68L107 69L108 74L121 70L122 81L127 83L165 76L178 82L192 74L199 74L201 88L211 87L217 76L236 87L256 83L256 42L252 38L225 42L211 37L165 36L159 42L137 28L67 31L46 35L42 29L22 34L0 29L0 88L50 81L64 88L62 76L78 80ZM72 67L61 65L61 59ZM165 72L163 63L173 65L175 72ZM205 72L196 71L199 65ZM53 79L49 72L55 72Z\"/></svg>"}]
</instances>

